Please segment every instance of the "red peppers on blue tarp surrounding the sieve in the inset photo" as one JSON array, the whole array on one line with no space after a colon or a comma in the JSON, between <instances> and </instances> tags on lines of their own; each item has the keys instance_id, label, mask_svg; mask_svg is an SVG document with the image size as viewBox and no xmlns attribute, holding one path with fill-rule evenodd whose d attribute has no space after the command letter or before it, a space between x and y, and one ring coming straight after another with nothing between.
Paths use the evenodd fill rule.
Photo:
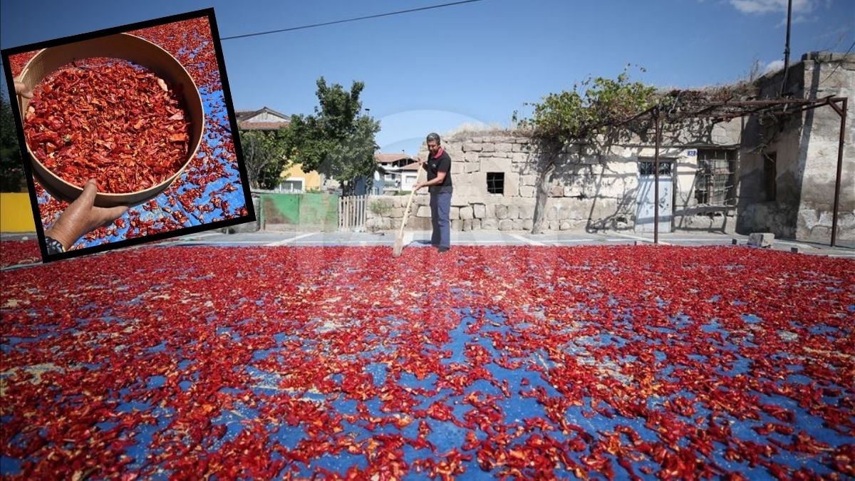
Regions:
<instances>
[{"instance_id":1,"label":"red peppers on blue tarp surrounding the sieve in the inset photo","mask_svg":"<svg viewBox=\"0 0 855 481\"><path fill-rule=\"evenodd\" d=\"M72 248L121 241L144 235L245 217L233 134L222 92L219 62L207 18L168 23L130 32L159 45L172 54L191 75L205 105L205 135L198 155L185 172L154 205L133 207L116 223L91 231ZM13 75L18 75L37 52L9 56ZM38 209L45 228L56 220L68 203L54 199L36 182ZM231 199L229 202L227 199Z\"/></svg>"}]
</instances>

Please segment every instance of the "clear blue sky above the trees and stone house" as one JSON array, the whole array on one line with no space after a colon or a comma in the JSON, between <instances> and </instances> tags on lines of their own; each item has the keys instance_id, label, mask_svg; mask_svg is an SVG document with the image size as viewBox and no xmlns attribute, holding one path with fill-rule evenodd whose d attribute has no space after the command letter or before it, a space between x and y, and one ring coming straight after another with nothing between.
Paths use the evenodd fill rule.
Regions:
<instances>
[{"instance_id":1,"label":"clear blue sky above the trees and stone house","mask_svg":"<svg viewBox=\"0 0 855 481\"><path fill-rule=\"evenodd\" d=\"M213 6L222 37L448 3L450 0L145 2L3 0L9 48ZM506 127L549 92L589 75L697 87L781 63L787 0L481 0L379 19L222 42L236 109L311 113L315 80L366 84L382 151L416 153L425 134L463 123ZM793 0L791 60L846 51L855 1ZM37 20L38 19L38 20Z\"/></svg>"}]
</instances>

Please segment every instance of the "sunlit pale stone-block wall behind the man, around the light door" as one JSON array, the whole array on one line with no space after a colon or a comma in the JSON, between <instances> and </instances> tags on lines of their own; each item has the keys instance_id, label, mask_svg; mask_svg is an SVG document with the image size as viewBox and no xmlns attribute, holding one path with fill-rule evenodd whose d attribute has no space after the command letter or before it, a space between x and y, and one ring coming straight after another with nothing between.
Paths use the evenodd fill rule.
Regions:
<instances>
[{"instance_id":1,"label":"sunlit pale stone-block wall behind the man, around the light door","mask_svg":"<svg viewBox=\"0 0 855 481\"><path fill-rule=\"evenodd\" d=\"M710 135L722 144L738 141L738 132L734 133L732 128L719 127ZM469 133L444 139L443 146L452 159L452 230L532 229L535 187L546 160L535 140L507 133ZM691 151L663 145L660 152L660 157L675 162L675 228L734 229L733 210L716 209L711 213L698 208L692 192L697 157ZM604 154L593 154L579 145L567 148L561 153L551 178L545 229L576 232L634 229L638 162L652 160L653 153L652 146L645 144L621 145ZM419 157L427 155L422 146ZM488 191L490 173L504 174L503 193ZM398 229L407 200L408 196L369 198L366 228ZM429 196L427 190L422 190L413 200L407 229L430 227Z\"/></svg>"}]
</instances>

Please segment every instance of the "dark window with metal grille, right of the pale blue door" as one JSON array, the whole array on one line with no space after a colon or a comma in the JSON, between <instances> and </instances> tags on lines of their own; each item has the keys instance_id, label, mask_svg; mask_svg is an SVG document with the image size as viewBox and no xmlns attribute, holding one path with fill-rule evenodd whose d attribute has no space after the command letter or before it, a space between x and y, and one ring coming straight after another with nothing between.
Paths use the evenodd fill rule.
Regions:
<instances>
[{"instance_id":1,"label":"dark window with metal grille, right of the pale blue door","mask_svg":"<svg viewBox=\"0 0 855 481\"><path fill-rule=\"evenodd\" d=\"M695 199L700 205L734 205L736 151L698 149Z\"/></svg>"}]
</instances>

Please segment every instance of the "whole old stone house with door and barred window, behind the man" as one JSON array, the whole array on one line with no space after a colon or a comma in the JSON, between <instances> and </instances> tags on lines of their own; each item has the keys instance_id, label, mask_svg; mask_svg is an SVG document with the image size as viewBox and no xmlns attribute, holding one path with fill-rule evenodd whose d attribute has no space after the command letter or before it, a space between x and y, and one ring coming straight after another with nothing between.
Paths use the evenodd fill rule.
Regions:
<instances>
[{"instance_id":1,"label":"whole old stone house with door and barred window, behind the man","mask_svg":"<svg viewBox=\"0 0 855 481\"><path fill-rule=\"evenodd\" d=\"M855 55L806 54L788 72L787 90L795 98L852 98L855 92ZM777 96L782 75L756 81L762 98ZM840 116L823 106L774 126L763 122L761 116L744 116L663 138L659 232L767 231L828 243ZM844 134L838 238L855 244L855 136L851 127ZM452 229L532 228L535 185L545 160L536 141L511 132L469 132L443 139L443 145L453 161ZM422 145L419 157L427 154ZM598 153L570 145L561 156L551 177L546 229L652 231L652 140ZM399 225L406 200L370 198L374 209L367 229ZM408 229L430 229L428 194L417 194L414 203Z\"/></svg>"}]
</instances>

